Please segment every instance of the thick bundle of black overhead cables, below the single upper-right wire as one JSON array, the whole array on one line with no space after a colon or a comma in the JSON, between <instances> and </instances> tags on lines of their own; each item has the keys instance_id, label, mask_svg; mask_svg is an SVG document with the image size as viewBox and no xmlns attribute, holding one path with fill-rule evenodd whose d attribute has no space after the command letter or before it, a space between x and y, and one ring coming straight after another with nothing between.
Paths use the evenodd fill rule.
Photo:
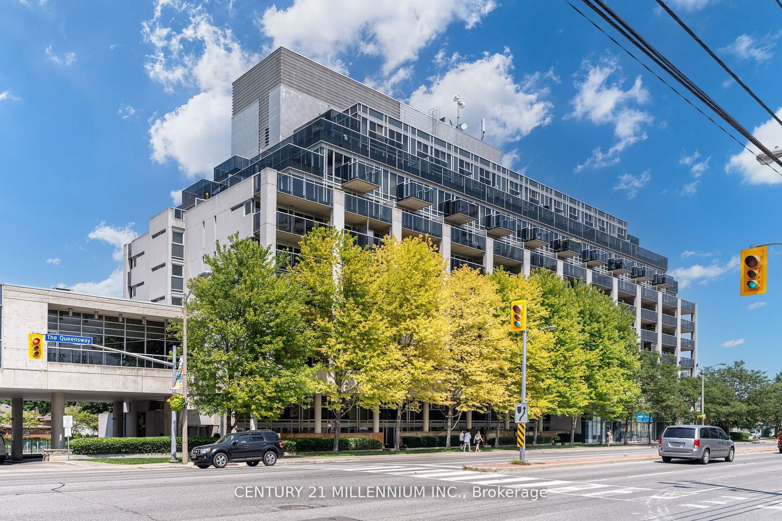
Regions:
<instances>
[{"instance_id":1,"label":"thick bundle of black overhead cables, below the single upper-right wire","mask_svg":"<svg viewBox=\"0 0 782 521\"><path fill-rule=\"evenodd\" d=\"M766 148L766 146L763 145L754 135L752 135L751 132L749 132L747 129L741 126L741 123L735 120L733 116L730 116L730 114L726 112L712 98L708 97L708 95L706 95L706 93L702 91L700 87L694 84L694 82L690 80L690 78L688 78L684 73L682 73L678 68L676 68L676 66L674 66L669 59L665 58L665 56L662 55L660 52L658 52L657 49L655 49L651 44L645 41L644 38L641 37L640 34L638 34L637 31L633 29L633 27L630 27L628 23L622 20L621 16L613 12L612 9L605 4L605 2L603 2L602 0L594 0L595 3L601 6L601 9L603 9L601 10L598 9L597 5L594 5L591 2L591 0L582 0L582 1L583 3L587 4L587 6L589 6L590 9L592 9L594 12L597 12L597 14L601 16L603 20L605 20L612 27L618 30L619 33L622 34L622 36L626 37L627 40L629 40L633 45L639 48L641 52L644 52L644 54L647 55L650 59L652 59L652 61L657 63L658 66L662 68L662 70L665 70L666 73L669 73L670 76L672 76L676 81L682 84L683 87L687 89L687 91L690 91L692 95L694 95L696 98L701 100L701 102L703 102L706 106L708 106L708 108L712 109L712 111L714 111L718 116L720 116L723 120L725 120L726 123L730 124L731 127L734 127L734 129L737 130L739 134L744 136L748 141L750 141L753 145L755 145L755 147L759 148L759 150L762 151L764 154L768 155L769 158L773 160L773 162L777 163L777 165L782 166L782 162L780 162L780 159L778 159L775 155L773 155L773 153L769 151L769 149ZM753 154L754 153L755 152L753 152ZM777 170L774 171L777 172ZM777 172L777 174L779 174L779 172Z\"/></svg>"}]
</instances>

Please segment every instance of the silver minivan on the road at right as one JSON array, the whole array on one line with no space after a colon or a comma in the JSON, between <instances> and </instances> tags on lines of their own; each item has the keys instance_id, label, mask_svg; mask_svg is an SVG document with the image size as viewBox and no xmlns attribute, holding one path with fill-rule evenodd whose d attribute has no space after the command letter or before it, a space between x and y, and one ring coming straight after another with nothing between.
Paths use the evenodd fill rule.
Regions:
<instances>
[{"instance_id":1,"label":"silver minivan on the road at right","mask_svg":"<svg viewBox=\"0 0 782 521\"><path fill-rule=\"evenodd\" d=\"M711 425L672 425L665 428L657 449L662 461L674 458L697 459L706 465L709 459L732 462L736 455L733 440L719 427Z\"/></svg>"}]
</instances>

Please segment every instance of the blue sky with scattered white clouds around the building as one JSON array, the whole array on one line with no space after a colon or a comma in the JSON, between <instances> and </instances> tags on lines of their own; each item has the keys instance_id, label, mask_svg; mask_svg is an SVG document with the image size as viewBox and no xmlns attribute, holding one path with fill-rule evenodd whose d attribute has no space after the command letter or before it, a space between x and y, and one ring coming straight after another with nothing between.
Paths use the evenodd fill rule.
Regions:
<instances>
[{"instance_id":1,"label":"blue sky with scattered white clouds around the building","mask_svg":"<svg viewBox=\"0 0 782 521\"><path fill-rule=\"evenodd\" d=\"M766 146L782 145L782 128L655 2L609 4ZM780 109L775 2L669 5ZM701 365L782 370L782 249L766 295L740 298L737 272L741 248L782 241L782 177L564 0L2 0L0 281L121 294L121 244L228 158L231 80L278 45L452 119L460 94L468 131L486 117L516 170L626 219L669 257L699 306Z\"/></svg>"}]
</instances>

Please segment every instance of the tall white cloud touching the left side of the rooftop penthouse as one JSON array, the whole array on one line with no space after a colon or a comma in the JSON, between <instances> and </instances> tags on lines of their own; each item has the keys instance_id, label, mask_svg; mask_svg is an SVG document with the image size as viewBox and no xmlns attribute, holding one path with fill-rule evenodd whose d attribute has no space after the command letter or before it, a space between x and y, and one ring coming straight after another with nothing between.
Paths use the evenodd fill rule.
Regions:
<instances>
[{"instance_id":1,"label":"tall white cloud touching the left side of the rooftop penthouse","mask_svg":"<svg viewBox=\"0 0 782 521\"><path fill-rule=\"evenodd\" d=\"M163 25L163 9L185 12L185 28ZM185 105L150 119L152 159L174 159L188 177L208 175L231 150L231 82L260 58L242 49L230 29L215 26L202 7L175 0L159 0L142 34L153 49L145 63L152 80L166 91L179 86L200 91Z\"/></svg>"}]
</instances>

